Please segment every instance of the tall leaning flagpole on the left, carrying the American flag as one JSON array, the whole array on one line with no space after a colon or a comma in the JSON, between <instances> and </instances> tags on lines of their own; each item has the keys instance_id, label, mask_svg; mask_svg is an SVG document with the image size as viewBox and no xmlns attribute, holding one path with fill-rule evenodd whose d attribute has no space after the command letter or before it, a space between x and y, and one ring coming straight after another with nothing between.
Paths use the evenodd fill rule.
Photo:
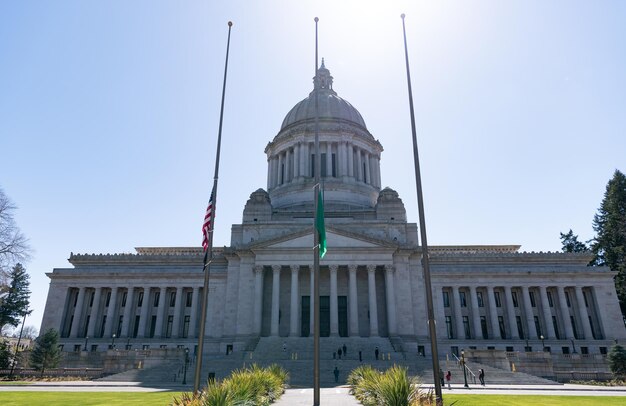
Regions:
<instances>
[{"instance_id":1,"label":"tall leaning flagpole on the left, carrying the American flag","mask_svg":"<svg viewBox=\"0 0 626 406\"><path fill-rule=\"evenodd\" d=\"M204 332L206 330L206 313L209 303L209 276L211 275L211 261L213 261L213 230L215 228L215 207L217 202L217 178L220 170L220 147L222 144L222 122L224 119L224 96L226 94L226 73L228 72L228 50L230 48L230 29L233 23L228 22L228 40L226 42L226 63L224 64L224 85L222 86L222 106L220 108L220 124L217 131L217 151L215 153L215 175L213 176L213 189L211 191L211 201L213 210L208 230L208 247L204 251L204 261L202 272L204 272L204 287L202 291L202 312L200 314L200 331L198 332L198 350L196 354L196 374L193 380L193 391L198 392L200 388L200 374L202 373L202 352L204 347Z\"/></svg>"}]
</instances>

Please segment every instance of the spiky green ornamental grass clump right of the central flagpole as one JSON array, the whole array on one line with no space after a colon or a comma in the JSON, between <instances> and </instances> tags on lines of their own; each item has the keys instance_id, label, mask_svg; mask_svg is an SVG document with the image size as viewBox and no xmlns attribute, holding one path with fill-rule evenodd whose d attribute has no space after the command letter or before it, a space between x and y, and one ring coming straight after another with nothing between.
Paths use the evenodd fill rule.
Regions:
<instances>
[{"instance_id":1,"label":"spiky green ornamental grass clump right of the central flagpole","mask_svg":"<svg viewBox=\"0 0 626 406\"><path fill-rule=\"evenodd\" d=\"M352 393L364 406L423 406L434 404L432 391L424 391L405 367L394 365L380 372L369 365L348 376Z\"/></svg>"}]
</instances>

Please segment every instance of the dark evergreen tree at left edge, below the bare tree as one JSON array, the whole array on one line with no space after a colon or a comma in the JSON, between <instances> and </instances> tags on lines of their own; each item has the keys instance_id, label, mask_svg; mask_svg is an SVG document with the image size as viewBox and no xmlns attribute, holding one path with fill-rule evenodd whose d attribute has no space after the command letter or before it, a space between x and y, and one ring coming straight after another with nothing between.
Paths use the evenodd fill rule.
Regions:
<instances>
[{"instance_id":1,"label":"dark evergreen tree at left edge, below the bare tree","mask_svg":"<svg viewBox=\"0 0 626 406\"><path fill-rule=\"evenodd\" d=\"M8 276L8 294L0 304L0 326L10 324L17 327L22 322L24 315L30 314L28 310L30 276L19 263L13 267Z\"/></svg>"}]
</instances>

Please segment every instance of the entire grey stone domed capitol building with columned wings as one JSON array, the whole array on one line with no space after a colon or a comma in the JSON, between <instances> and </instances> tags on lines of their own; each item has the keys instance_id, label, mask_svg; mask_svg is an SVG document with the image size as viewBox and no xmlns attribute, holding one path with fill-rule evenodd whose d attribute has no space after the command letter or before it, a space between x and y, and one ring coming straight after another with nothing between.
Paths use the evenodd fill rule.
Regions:
<instances>
[{"instance_id":1,"label":"entire grey stone domed capitol building with columned wings","mask_svg":"<svg viewBox=\"0 0 626 406\"><path fill-rule=\"evenodd\" d=\"M387 340L396 350L429 355L417 226L407 222L398 193L382 187L383 147L333 90L323 63L313 87L265 148L266 189L250 195L231 245L215 250L205 350L254 350L265 337L282 343L311 336L317 94L329 247L321 261L321 336ZM588 254L510 245L430 250L442 353L523 351L541 340L553 352L599 354L626 339L615 273L587 266ZM41 331L58 329L66 351L87 350L87 340L105 351L115 339L127 349L194 348L202 259L200 247L72 254L73 267L48 273Z\"/></svg>"}]
</instances>

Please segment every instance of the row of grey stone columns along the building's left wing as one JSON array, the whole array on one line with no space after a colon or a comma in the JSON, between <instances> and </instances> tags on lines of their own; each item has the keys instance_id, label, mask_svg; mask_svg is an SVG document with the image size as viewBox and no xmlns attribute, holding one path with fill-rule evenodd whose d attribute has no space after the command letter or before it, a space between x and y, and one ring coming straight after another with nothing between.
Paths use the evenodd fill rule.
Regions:
<instances>
[{"instance_id":1,"label":"row of grey stone columns along the building's left wing","mask_svg":"<svg viewBox=\"0 0 626 406\"><path fill-rule=\"evenodd\" d=\"M148 317L151 315L156 315L156 326L155 326L155 337L160 338L163 334L163 322L166 316L165 309L166 302L168 302L167 292L168 287L159 286L159 287L143 287L143 288L118 288L118 287L95 287L91 288L88 286L83 286L78 288L78 297L76 299L76 306L73 308L73 322L71 325L71 330L69 331L70 338L79 337L79 333L82 330L81 327L84 326L82 323L83 319L88 314L89 306L85 305L85 300L88 291L94 290L93 297L93 305L91 306L91 312L89 312L89 321L86 326L86 336L87 337L95 337L96 336L96 328L102 317L106 315L106 321L104 323L104 330L102 337L112 337L114 331L114 323L115 320L119 320L115 316L120 316L120 312L123 309L122 317L122 327L120 337L131 337L133 335L131 320L135 319L137 309L140 310L139 315L139 326L137 328L137 337L148 337L146 334L146 327L148 325ZM156 314L151 311L152 306L152 296L150 292L153 289L157 289L159 292L159 303L156 310ZM108 300L108 306L106 306L106 302L102 301L102 294L110 290L111 296ZM172 320L172 338L178 338L179 332L181 330L181 319L185 316L183 312L183 295L185 290L192 291L191 298L191 311L189 313L189 335L194 336L196 331L196 314L198 312L198 302L199 302L199 293L200 287L187 288L183 286L179 286L175 288L176 298L174 302L174 313ZM73 292L73 290L68 290L69 292ZM143 300L141 306L138 303L139 293L143 292ZM126 303L125 306L122 306L121 300L118 305L118 297L120 294L126 293ZM100 303L102 302L102 306ZM68 307L68 312L72 311L72 307ZM67 317L66 317L67 319ZM82 333L80 333L82 334ZM149 334L149 333L148 333Z\"/></svg>"}]
</instances>

